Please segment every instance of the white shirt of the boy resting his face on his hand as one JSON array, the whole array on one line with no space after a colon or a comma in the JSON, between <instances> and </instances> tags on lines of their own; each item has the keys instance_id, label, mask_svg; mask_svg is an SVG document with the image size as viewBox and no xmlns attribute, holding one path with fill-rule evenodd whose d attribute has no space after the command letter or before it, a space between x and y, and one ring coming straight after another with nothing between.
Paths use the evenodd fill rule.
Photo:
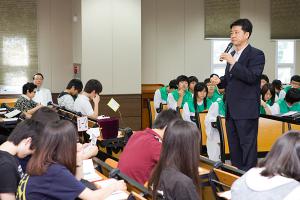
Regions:
<instances>
[{"instance_id":1,"label":"white shirt of the boy resting his face on his hand","mask_svg":"<svg viewBox=\"0 0 300 200\"><path fill-rule=\"evenodd\" d=\"M74 102L74 110L76 112L81 112L82 115L91 116L94 114L90 99L83 94L79 94L76 98Z\"/></svg>"}]
</instances>

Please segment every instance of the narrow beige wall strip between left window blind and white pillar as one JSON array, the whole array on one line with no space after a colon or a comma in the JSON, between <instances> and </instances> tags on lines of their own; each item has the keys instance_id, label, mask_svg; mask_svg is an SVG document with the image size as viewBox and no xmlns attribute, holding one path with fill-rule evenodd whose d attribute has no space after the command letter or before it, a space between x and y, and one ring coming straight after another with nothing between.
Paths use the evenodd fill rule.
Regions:
<instances>
[{"instance_id":1,"label":"narrow beige wall strip between left window blind and white pillar","mask_svg":"<svg viewBox=\"0 0 300 200\"><path fill-rule=\"evenodd\" d=\"M38 0L38 65L44 86L61 92L73 77L72 0Z\"/></svg>"}]
</instances>

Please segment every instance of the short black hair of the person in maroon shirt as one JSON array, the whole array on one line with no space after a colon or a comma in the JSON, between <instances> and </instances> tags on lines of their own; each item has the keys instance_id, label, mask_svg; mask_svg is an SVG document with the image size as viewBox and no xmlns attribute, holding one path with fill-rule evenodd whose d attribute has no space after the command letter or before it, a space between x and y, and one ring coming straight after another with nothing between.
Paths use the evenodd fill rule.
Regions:
<instances>
[{"instance_id":1,"label":"short black hair of the person in maroon shirt","mask_svg":"<svg viewBox=\"0 0 300 200\"><path fill-rule=\"evenodd\" d=\"M175 110L163 110L155 118L152 128L164 129L171 121L180 119L180 114Z\"/></svg>"}]
</instances>

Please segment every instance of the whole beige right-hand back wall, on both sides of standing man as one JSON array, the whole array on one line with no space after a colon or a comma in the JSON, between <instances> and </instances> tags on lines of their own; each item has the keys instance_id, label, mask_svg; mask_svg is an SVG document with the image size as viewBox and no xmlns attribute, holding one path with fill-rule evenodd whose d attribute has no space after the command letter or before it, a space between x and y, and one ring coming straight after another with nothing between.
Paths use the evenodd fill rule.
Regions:
<instances>
[{"instance_id":1,"label":"whole beige right-hand back wall, on both sides of standing man","mask_svg":"<svg viewBox=\"0 0 300 200\"><path fill-rule=\"evenodd\" d=\"M270 0L240 0L240 15L252 21L250 43L264 51L264 73L274 79L276 42L270 40ZM300 63L299 43L296 64ZM199 80L211 74L211 41L204 39L204 0L142 0L142 83L166 84L180 74Z\"/></svg>"}]
</instances>

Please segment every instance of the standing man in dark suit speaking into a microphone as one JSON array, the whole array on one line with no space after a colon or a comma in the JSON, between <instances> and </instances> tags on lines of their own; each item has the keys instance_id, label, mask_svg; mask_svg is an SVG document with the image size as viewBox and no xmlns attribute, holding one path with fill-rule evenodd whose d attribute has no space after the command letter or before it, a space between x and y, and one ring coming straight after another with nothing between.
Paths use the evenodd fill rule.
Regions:
<instances>
[{"instance_id":1,"label":"standing man in dark suit speaking into a microphone","mask_svg":"<svg viewBox=\"0 0 300 200\"><path fill-rule=\"evenodd\" d=\"M225 76L220 79L214 76L211 82L225 88L231 163L246 171L257 163L260 76L265 56L248 43L252 32L248 19L239 19L230 28L234 51L221 54L220 59L227 61Z\"/></svg>"}]
</instances>

